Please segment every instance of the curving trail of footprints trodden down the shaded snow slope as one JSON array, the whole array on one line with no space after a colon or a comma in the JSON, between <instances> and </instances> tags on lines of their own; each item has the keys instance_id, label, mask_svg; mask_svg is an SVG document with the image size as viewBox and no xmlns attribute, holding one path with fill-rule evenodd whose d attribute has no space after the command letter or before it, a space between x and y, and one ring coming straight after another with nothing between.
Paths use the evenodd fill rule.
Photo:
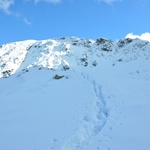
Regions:
<instances>
[{"instance_id":1,"label":"curving trail of footprints trodden down the shaded snow slope","mask_svg":"<svg viewBox=\"0 0 150 150\"><path fill-rule=\"evenodd\" d=\"M93 88L95 94L95 99L93 99L96 100L94 112L89 112L90 114L84 115L82 127L77 131L77 135L65 144L63 150L82 149L83 145L85 145L91 137L100 133L105 126L109 115L106 107L106 100L102 93L102 87L97 84L95 80L90 79L88 75L81 73L81 76L84 80L88 81Z\"/></svg>"}]
</instances>

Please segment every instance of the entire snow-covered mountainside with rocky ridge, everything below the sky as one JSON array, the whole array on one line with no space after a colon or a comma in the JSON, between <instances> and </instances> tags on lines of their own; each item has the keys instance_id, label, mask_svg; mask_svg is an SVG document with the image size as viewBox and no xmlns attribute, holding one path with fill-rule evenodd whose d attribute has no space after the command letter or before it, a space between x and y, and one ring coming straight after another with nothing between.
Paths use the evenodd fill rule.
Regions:
<instances>
[{"instance_id":1,"label":"entire snow-covered mountainside with rocky ridge, everything below the sky","mask_svg":"<svg viewBox=\"0 0 150 150\"><path fill-rule=\"evenodd\" d=\"M1 150L149 150L150 42L63 37L0 47Z\"/></svg>"}]
</instances>

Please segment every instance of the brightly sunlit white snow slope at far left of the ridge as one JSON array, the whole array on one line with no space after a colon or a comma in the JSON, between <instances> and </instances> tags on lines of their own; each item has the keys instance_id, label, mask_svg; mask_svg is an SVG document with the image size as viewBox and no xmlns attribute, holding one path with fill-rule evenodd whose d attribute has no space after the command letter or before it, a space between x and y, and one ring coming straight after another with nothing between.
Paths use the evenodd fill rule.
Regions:
<instances>
[{"instance_id":1,"label":"brightly sunlit white snow slope at far left of the ridge","mask_svg":"<svg viewBox=\"0 0 150 150\"><path fill-rule=\"evenodd\" d=\"M26 58L34 40L14 42L0 47L0 77L6 77L16 72Z\"/></svg>"}]
</instances>

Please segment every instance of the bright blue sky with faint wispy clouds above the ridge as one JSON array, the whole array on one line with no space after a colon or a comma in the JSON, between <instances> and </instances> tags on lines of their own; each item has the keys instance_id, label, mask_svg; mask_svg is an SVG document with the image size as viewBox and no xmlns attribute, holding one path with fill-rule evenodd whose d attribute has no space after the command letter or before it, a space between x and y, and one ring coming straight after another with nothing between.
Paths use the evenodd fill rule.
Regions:
<instances>
[{"instance_id":1,"label":"bright blue sky with faint wispy clouds above the ridge","mask_svg":"<svg viewBox=\"0 0 150 150\"><path fill-rule=\"evenodd\" d=\"M150 32L150 0L0 0L0 45L77 36L112 40Z\"/></svg>"}]
</instances>

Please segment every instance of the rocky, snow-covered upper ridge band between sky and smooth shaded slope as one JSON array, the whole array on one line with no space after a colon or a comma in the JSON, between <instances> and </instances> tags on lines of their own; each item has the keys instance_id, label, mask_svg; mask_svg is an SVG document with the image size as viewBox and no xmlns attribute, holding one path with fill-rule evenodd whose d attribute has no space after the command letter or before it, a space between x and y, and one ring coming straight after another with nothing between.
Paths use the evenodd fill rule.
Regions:
<instances>
[{"instance_id":1,"label":"rocky, snow-covered upper ridge band between sky and smooth shaded slope","mask_svg":"<svg viewBox=\"0 0 150 150\"><path fill-rule=\"evenodd\" d=\"M118 42L98 38L62 37L48 40L13 42L0 47L0 78L32 67L69 70L96 67L101 60L117 62L150 58L150 42L121 39Z\"/></svg>"}]
</instances>

